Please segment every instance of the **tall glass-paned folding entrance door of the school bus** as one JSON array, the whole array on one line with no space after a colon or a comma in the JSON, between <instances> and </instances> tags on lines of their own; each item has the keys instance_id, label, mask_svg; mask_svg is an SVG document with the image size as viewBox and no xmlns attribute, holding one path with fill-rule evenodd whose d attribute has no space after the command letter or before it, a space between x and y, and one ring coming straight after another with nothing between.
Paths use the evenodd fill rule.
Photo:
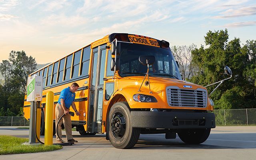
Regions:
<instances>
[{"instance_id":1,"label":"tall glass-paned folding entrance door of the school bus","mask_svg":"<svg viewBox=\"0 0 256 160\"><path fill-rule=\"evenodd\" d=\"M88 132L101 133L106 44L93 48Z\"/></svg>"}]
</instances>

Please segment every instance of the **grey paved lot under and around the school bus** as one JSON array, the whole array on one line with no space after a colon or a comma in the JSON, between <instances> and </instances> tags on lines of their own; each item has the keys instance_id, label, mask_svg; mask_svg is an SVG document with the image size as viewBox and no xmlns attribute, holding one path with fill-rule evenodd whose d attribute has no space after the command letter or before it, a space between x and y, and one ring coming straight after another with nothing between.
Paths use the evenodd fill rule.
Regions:
<instances>
[{"instance_id":1,"label":"grey paved lot under and around the school bus","mask_svg":"<svg viewBox=\"0 0 256 160\"><path fill-rule=\"evenodd\" d=\"M2 127L0 135L28 138L28 130ZM256 126L216 127L199 145L186 145L178 136L166 140L164 134L144 134L134 148L126 150L114 148L104 134L73 135L78 143L61 150L2 155L0 160L256 160Z\"/></svg>"}]
</instances>

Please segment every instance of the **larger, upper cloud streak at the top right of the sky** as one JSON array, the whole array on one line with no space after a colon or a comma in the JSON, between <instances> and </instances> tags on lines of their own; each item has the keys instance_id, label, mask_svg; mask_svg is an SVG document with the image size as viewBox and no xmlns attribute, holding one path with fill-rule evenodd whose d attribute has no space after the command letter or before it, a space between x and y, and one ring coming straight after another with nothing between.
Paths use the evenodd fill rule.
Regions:
<instances>
[{"instance_id":1,"label":"larger, upper cloud streak at the top right of the sky","mask_svg":"<svg viewBox=\"0 0 256 160\"><path fill-rule=\"evenodd\" d=\"M256 6L231 8L220 13L221 16L214 16L213 18L235 18L243 16L252 16L256 14Z\"/></svg>"}]
</instances>

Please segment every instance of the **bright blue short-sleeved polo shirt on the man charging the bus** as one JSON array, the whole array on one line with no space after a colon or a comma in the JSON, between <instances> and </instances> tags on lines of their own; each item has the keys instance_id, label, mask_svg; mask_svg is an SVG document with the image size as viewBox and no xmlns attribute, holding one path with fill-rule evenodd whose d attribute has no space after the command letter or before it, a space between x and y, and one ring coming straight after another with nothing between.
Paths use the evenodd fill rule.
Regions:
<instances>
[{"instance_id":1,"label":"bright blue short-sleeved polo shirt on the man charging the bus","mask_svg":"<svg viewBox=\"0 0 256 160\"><path fill-rule=\"evenodd\" d=\"M58 100L58 103L60 103L60 99L64 99L64 103L66 108L70 108L71 104L74 102L76 97L76 93L73 93L70 91L70 88L65 88L60 92L60 98Z\"/></svg>"}]
</instances>

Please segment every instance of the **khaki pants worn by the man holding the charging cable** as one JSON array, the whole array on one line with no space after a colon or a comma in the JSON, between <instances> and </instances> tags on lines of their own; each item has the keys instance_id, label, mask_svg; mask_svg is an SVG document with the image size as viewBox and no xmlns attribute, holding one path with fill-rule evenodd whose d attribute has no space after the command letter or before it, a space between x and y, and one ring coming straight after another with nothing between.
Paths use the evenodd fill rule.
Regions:
<instances>
[{"instance_id":1,"label":"khaki pants worn by the man holding the charging cable","mask_svg":"<svg viewBox=\"0 0 256 160\"><path fill-rule=\"evenodd\" d=\"M68 109L69 110L69 109ZM60 104L56 104L55 107L55 126L56 126L56 132L58 132L58 135L60 136L60 138L62 137L62 133L61 133L61 124L62 121L64 123L64 127L65 127L65 131L66 131L66 138L67 140L71 140L73 139L72 136L72 124L71 124L71 116L70 115L65 115L63 116L63 119L60 120L59 125L57 126L58 120L60 119L60 117L64 114L64 110L61 107ZM56 134L56 139L60 140L60 138L58 137L58 135Z\"/></svg>"}]
</instances>

